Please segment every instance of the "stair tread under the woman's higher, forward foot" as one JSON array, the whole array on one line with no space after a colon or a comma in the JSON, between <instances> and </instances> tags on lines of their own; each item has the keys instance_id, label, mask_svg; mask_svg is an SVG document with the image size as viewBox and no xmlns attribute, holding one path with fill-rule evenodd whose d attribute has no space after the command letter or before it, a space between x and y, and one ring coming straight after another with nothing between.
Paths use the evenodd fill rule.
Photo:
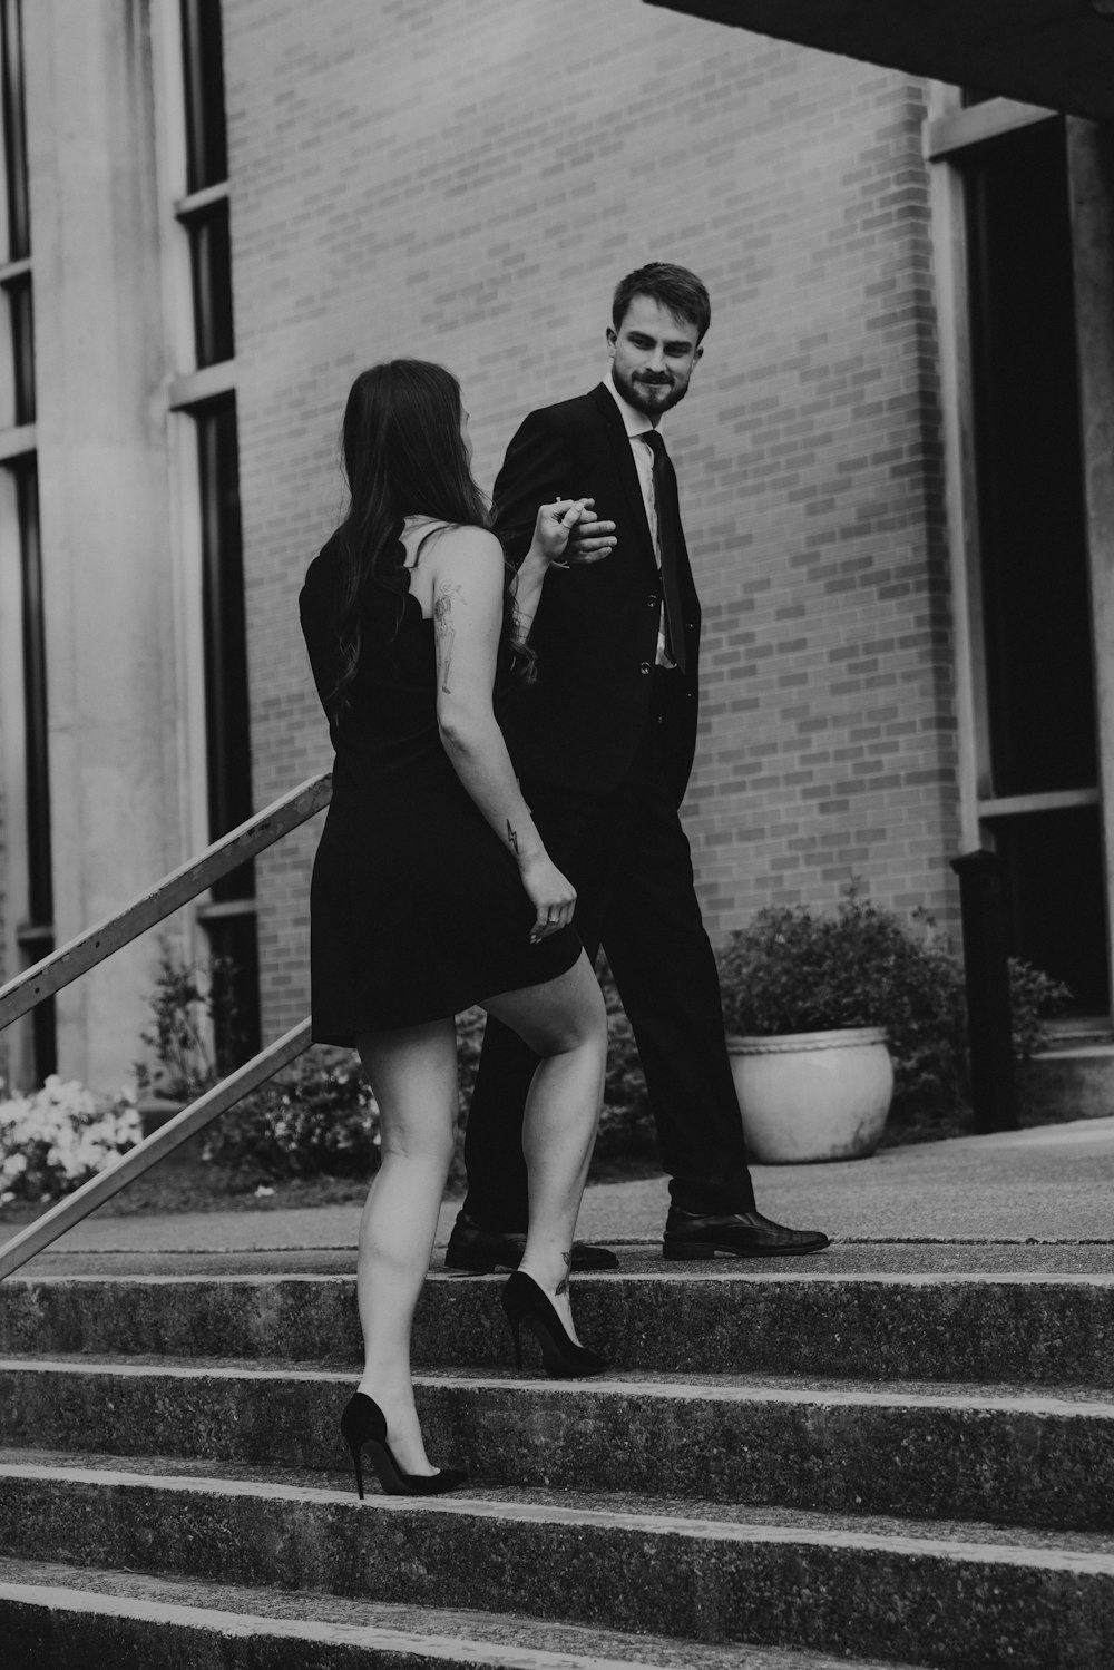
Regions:
<instances>
[{"instance_id":1,"label":"stair tread under the woman's higher, forward foot","mask_svg":"<svg viewBox=\"0 0 1114 1670\"><path fill-rule=\"evenodd\" d=\"M120 1379L247 1379L297 1381L336 1388L337 1396L354 1384L354 1373L341 1368L307 1368L281 1358L169 1356L144 1353L120 1356L110 1351L28 1351L0 1356L0 1373L97 1374ZM947 1381L947 1379L865 1379L832 1374L767 1374L725 1369L681 1374L628 1369L591 1381L554 1381L543 1374L524 1379L518 1369L423 1368L416 1386L454 1386L463 1391L501 1391L521 1396L583 1401L596 1396L631 1396L725 1403L862 1403L870 1406L915 1404L939 1408L987 1408L1114 1418L1114 1394L1104 1388L1046 1384L1036 1381Z\"/></svg>"}]
</instances>

